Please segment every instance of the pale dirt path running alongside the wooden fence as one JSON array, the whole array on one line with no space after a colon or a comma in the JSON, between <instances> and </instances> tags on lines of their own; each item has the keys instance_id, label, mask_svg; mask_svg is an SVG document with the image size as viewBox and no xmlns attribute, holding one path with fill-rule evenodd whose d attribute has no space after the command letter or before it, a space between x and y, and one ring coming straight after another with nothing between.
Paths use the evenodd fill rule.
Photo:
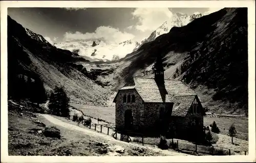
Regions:
<instances>
[{"instance_id":1,"label":"pale dirt path running alongside the wooden fence","mask_svg":"<svg viewBox=\"0 0 256 163\"><path fill-rule=\"evenodd\" d=\"M63 122L61 120L58 120L58 119L54 118L51 115L47 115L47 114L40 114L40 115L43 116L44 118L46 118L48 121L50 121L51 123L53 123L55 125L59 125L59 126L67 128L67 129L71 129L71 130L78 130L78 131L81 131L81 132L83 132L87 135L97 137L97 138L100 137L104 140L107 140L107 141L110 141L110 142L113 142L113 143L123 144L123 145L126 145L126 146L127 145L129 145L129 146L139 146L139 147L142 147L142 148L147 148L148 150L153 150L153 151L156 151L156 152L161 152L163 154L172 155L172 156L188 155L188 154L184 154L184 153L178 153L178 152L173 152L173 151L168 151L168 150L161 150L159 148L145 147L145 146L141 146L141 145L137 145L137 144L133 144L133 143L118 141L118 140L115 140L114 138L112 138L109 135L105 135L105 134L102 134L102 133L95 132L93 130L90 130L89 128L88 129L87 128L82 128L82 127L79 127L77 125L73 125L73 124Z\"/></svg>"}]
</instances>

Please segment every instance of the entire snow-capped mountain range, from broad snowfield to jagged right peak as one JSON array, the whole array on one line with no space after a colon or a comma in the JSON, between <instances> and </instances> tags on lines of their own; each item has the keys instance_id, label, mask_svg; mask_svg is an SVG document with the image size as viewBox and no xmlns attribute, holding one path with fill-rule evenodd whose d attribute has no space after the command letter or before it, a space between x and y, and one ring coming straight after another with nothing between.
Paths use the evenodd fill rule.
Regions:
<instances>
[{"instance_id":1,"label":"entire snow-capped mountain range, from broad snowfield to jagged right peak","mask_svg":"<svg viewBox=\"0 0 256 163\"><path fill-rule=\"evenodd\" d=\"M67 49L70 51L76 50L78 51L78 55L86 56L93 60L114 61L137 50L143 43L154 41L158 36L168 33L174 26L184 26L201 16L202 14L188 15L176 13L171 19L165 21L148 38L143 39L141 42L126 40L121 43L108 44L102 39L72 42L65 41L54 45L61 49Z\"/></svg>"}]
</instances>

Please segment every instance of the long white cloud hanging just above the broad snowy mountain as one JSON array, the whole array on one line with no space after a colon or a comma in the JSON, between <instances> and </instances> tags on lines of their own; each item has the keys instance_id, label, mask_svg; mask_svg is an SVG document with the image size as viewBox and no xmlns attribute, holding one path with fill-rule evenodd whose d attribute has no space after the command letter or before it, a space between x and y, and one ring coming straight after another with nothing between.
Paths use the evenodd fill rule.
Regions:
<instances>
[{"instance_id":1,"label":"long white cloud hanging just above the broad snowy mountain","mask_svg":"<svg viewBox=\"0 0 256 163\"><path fill-rule=\"evenodd\" d=\"M133 39L135 36L126 32L121 32L119 29L115 29L112 26L99 26L93 33L82 34L80 32L64 34L64 41L75 40L92 40L103 39L106 43L120 43L122 41Z\"/></svg>"}]
</instances>

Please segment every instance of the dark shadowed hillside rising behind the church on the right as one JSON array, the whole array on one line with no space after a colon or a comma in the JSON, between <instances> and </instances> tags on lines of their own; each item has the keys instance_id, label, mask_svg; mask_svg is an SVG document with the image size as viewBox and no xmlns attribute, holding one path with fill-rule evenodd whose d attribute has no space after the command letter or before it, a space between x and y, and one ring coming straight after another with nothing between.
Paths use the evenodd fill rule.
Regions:
<instances>
[{"instance_id":1,"label":"dark shadowed hillside rising behind the church on the right","mask_svg":"<svg viewBox=\"0 0 256 163\"><path fill-rule=\"evenodd\" d=\"M247 9L224 8L144 43L116 62L83 64L115 69L98 73L96 81L118 90L132 76L152 76L161 55L165 78L182 79L210 111L246 114L248 110Z\"/></svg>"}]
</instances>

